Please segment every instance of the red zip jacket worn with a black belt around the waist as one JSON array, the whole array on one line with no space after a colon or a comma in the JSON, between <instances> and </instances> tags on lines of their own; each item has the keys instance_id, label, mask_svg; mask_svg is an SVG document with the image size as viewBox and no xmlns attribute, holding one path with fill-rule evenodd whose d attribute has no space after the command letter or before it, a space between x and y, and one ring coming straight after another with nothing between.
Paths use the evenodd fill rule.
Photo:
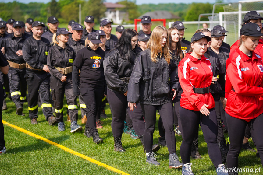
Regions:
<instances>
[{"instance_id":1,"label":"red zip jacket worn with a black belt around the waist","mask_svg":"<svg viewBox=\"0 0 263 175\"><path fill-rule=\"evenodd\" d=\"M193 87L204 88L211 85L213 73L208 58L202 56L198 60L187 53L178 65L178 76L183 89L181 107L195 111L199 111L204 104L209 105L208 109L215 107L215 100L210 92L196 94L193 90Z\"/></svg>"}]
</instances>

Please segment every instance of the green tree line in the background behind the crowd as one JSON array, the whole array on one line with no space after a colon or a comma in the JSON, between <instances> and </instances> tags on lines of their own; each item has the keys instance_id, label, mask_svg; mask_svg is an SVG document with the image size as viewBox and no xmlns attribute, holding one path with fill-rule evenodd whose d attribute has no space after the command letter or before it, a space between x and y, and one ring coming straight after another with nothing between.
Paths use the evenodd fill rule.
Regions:
<instances>
[{"instance_id":1,"label":"green tree line in the background behind the crowd","mask_svg":"<svg viewBox=\"0 0 263 175\"><path fill-rule=\"evenodd\" d=\"M46 22L49 16L56 16L60 23L68 23L70 20L78 21L79 19L79 4L82 7L82 21L85 16L92 15L95 18L95 23L99 23L100 19L105 17L106 7L103 4L105 0L51 0L49 3L32 2L24 4L20 2L0 3L0 17L3 20L14 18L15 20L25 21L31 17L34 20ZM222 2L222 1L217 1ZM156 10L167 10L180 18L181 21L198 21L198 16L201 13L212 13L213 4L209 3L192 3L192 4L142 4L136 5L136 0L120 0L119 4L124 5L124 8L119 10L126 11L129 15L129 21L125 23L133 23L135 18L140 15ZM222 12L223 9L217 8L215 12ZM202 21L208 20L202 18Z\"/></svg>"}]
</instances>

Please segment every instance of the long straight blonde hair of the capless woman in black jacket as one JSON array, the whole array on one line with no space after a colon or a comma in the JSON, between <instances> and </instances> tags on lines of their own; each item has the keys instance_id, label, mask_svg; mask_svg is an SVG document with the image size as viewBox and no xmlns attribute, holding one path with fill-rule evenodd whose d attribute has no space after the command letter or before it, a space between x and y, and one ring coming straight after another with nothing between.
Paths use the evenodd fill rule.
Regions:
<instances>
[{"instance_id":1,"label":"long straight blonde hair of the capless woman in black jacket","mask_svg":"<svg viewBox=\"0 0 263 175\"><path fill-rule=\"evenodd\" d=\"M162 40L162 34L163 33L167 34L167 41L162 48L161 46L161 40ZM165 60L167 61L168 64L170 64L170 60L172 59L171 57L171 51L169 49L169 37L168 37L168 31L164 26L156 26L152 33L151 37L148 41L147 44L147 49L151 50L151 61L157 63L157 56L159 52L161 55L164 55Z\"/></svg>"}]
</instances>

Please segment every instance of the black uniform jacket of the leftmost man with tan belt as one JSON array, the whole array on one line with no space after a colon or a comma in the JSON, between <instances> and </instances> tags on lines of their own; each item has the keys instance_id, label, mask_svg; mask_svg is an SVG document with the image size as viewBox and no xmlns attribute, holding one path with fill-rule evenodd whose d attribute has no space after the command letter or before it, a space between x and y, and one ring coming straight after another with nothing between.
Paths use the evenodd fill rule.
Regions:
<instances>
[{"instance_id":1,"label":"black uniform jacket of the leftmost man with tan belt","mask_svg":"<svg viewBox=\"0 0 263 175\"><path fill-rule=\"evenodd\" d=\"M18 56L16 52L18 50L22 50L23 44L27 37L25 35L22 35L18 40L14 36L14 34L11 34L7 37L5 37L2 40L2 47L5 47L5 57L14 63L23 64L25 63L25 60L23 59L23 55Z\"/></svg>"}]
</instances>

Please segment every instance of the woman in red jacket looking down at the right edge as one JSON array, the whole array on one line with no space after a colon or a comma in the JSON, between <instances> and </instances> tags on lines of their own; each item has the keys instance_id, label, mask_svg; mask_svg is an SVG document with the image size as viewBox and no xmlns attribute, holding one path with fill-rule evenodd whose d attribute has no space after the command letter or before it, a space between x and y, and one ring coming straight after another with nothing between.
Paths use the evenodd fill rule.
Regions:
<instances>
[{"instance_id":1,"label":"woman in red jacket looking down at the right edge","mask_svg":"<svg viewBox=\"0 0 263 175\"><path fill-rule=\"evenodd\" d=\"M226 75L230 80L226 88L233 87L225 109L230 140L227 154L229 174L237 174L234 170L238 165L247 124L263 165L263 63L261 56L254 52L263 34L257 24L247 23L241 28L240 35L240 46L232 51L226 61Z\"/></svg>"}]
</instances>

